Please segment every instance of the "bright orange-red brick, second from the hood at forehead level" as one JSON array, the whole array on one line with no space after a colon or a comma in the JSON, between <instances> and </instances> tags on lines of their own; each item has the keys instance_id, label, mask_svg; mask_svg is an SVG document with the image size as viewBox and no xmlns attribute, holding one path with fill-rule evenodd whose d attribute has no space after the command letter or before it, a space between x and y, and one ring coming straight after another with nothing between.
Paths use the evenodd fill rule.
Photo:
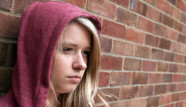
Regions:
<instances>
[{"instance_id":1,"label":"bright orange-red brick, second from the hood at forehead level","mask_svg":"<svg viewBox=\"0 0 186 107\"><path fill-rule=\"evenodd\" d=\"M135 30L133 28L127 28L126 40L144 44L145 42L145 33Z\"/></svg>"}]
</instances>

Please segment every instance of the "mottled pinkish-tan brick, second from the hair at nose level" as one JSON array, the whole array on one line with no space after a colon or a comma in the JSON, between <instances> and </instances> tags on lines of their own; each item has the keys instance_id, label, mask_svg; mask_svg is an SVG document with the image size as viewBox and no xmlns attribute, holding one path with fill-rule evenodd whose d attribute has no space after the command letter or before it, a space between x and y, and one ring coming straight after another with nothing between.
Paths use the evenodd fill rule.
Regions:
<instances>
[{"instance_id":1,"label":"mottled pinkish-tan brick, second from the hair at nose level","mask_svg":"<svg viewBox=\"0 0 186 107\"><path fill-rule=\"evenodd\" d=\"M140 71L141 70L141 60L125 58L124 69L129 71Z\"/></svg>"}]
</instances>

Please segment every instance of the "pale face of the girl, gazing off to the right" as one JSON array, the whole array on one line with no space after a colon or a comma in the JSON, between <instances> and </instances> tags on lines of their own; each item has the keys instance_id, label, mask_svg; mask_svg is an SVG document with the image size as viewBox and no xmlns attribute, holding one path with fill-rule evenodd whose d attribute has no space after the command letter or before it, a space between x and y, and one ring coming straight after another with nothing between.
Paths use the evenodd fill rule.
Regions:
<instances>
[{"instance_id":1,"label":"pale face of the girl, gazing off to the right","mask_svg":"<svg viewBox=\"0 0 186 107\"><path fill-rule=\"evenodd\" d=\"M90 33L80 24L69 24L62 37L62 48L54 56L52 77L57 94L72 92L77 87L87 68L90 51Z\"/></svg>"}]
</instances>

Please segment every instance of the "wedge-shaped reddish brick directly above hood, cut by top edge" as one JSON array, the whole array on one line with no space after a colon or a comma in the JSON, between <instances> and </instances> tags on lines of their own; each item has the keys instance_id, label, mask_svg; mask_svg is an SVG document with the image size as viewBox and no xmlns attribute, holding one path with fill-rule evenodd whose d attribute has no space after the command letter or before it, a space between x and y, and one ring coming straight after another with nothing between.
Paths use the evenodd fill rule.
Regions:
<instances>
[{"instance_id":1,"label":"wedge-shaped reddish brick directly above hood, cut by top edge","mask_svg":"<svg viewBox=\"0 0 186 107\"><path fill-rule=\"evenodd\" d=\"M79 7L85 8L86 0L63 0L69 3L72 3L74 5L77 5Z\"/></svg>"}]
</instances>

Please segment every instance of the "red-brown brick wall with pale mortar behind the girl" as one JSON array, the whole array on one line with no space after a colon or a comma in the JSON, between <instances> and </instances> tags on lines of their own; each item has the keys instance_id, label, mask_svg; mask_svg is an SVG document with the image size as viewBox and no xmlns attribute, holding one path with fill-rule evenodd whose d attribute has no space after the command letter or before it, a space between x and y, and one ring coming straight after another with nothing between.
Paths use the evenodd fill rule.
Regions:
<instances>
[{"instance_id":1,"label":"red-brown brick wall with pale mortar behind the girl","mask_svg":"<svg viewBox=\"0 0 186 107\"><path fill-rule=\"evenodd\" d=\"M20 16L33 1L0 1L2 95L11 87ZM99 87L115 96L111 107L186 107L186 0L61 1L102 21Z\"/></svg>"}]
</instances>

